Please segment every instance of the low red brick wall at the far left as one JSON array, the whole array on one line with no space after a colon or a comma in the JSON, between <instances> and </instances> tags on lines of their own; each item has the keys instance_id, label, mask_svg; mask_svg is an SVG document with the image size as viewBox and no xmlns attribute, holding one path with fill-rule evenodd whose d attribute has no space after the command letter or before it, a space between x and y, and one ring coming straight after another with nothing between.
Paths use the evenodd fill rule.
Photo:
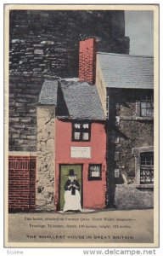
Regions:
<instances>
[{"instance_id":1,"label":"low red brick wall at the far left","mask_svg":"<svg viewBox=\"0 0 163 256\"><path fill-rule=\"evenodd\" d=\"M8 207L9 210L35 209L37 158L32 156L8 157Z\"/></svg>"}]
</instances>

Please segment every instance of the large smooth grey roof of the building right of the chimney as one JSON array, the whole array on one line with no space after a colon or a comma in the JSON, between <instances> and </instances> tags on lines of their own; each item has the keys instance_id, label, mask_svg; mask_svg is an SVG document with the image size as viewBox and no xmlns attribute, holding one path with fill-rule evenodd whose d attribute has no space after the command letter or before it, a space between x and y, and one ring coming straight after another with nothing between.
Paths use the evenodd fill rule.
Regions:
<instances>
[{"instance_id":1,"label":"large smooth grey roof of the building right of the chimney","mask_svg":"<svg viewBox=\"0 0 163 256\"><path fill-rule=\"evenodd\" d=\"M154 58L98 52L98 61L108 88L154 88Z\"/></svg>"}]
</instances>

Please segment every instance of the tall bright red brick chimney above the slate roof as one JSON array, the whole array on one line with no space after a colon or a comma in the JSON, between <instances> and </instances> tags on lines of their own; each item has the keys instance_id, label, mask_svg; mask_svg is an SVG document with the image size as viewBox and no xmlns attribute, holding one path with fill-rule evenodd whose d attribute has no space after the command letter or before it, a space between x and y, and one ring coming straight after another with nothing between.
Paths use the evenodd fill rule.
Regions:
<instances>
[{"instance_id":1,"label":"tall bright red brick chimney above the slate roof","mask_svg":"<svg viewBox=\"0 0 163 256\"><path fill-rule=\"evenodd\" d=\"M97 41L89 38L79 46L79 81L95 84Z\"/></svg>"}]
</instances>

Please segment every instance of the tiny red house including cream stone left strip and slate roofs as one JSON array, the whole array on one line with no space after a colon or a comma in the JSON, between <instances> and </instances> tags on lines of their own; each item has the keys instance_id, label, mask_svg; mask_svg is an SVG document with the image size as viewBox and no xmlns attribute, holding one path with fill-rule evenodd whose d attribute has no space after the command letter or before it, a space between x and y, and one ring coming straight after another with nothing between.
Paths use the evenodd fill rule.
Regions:
<instances>
[{"instance_id":1,"label":"tiny red house including cream stone left strip and slate roofs","mask_svg":"<svg viewBox=\"0 0 163 256\"><path fill-rule=\"evenodd\" d=\"M63 210L70 169L85 209L106 205L105 117L95 85L45 81L37 106L37 208Z\"/></svg>"}]
</instances>

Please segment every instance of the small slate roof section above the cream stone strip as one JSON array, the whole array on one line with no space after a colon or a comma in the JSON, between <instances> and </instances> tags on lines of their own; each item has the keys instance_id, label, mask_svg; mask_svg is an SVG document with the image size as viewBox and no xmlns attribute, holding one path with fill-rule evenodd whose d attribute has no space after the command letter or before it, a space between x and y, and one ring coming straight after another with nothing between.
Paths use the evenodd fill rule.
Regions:
<instances>
[{"instance_id":1,"label":"small slate roof section above the cream stone strip","mask_svg":"<svg viewBox=\"0 0 163 256\"><path fill-rule=\"evenodd\" d=\"M37 103L42 105L57 105L57 89L58 79L44 81Z\"/></svg>"}]
</instances>

